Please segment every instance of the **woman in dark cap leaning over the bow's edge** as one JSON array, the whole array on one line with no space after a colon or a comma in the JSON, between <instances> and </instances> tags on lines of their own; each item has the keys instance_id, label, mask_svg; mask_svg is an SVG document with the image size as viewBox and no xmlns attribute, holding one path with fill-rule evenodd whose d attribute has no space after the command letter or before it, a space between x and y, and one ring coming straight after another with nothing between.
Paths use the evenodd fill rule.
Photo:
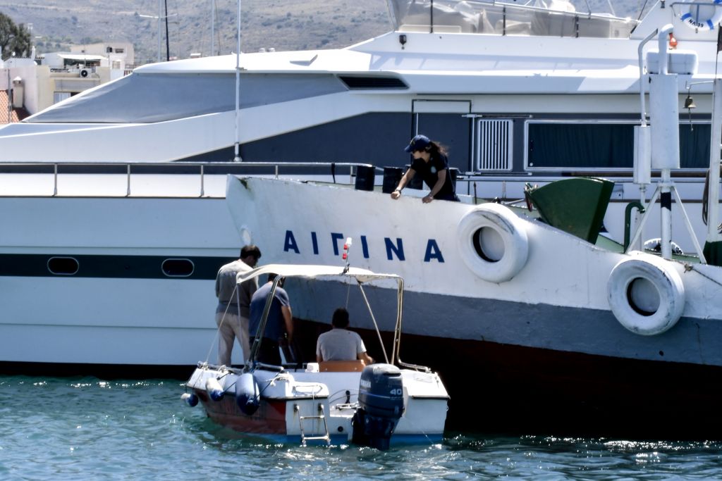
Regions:
<instances>
[{"instance_id":1,"label":"woman in dark cap leaning over the bow's edge","mask_svg":"<svg viewBox=\"0 0 722 481\"><path fill-rule=\"evenodd\" d=\"M411 142L404 150L414 156L414 162L412 162L404 177L401 177L396 190L391 193L392 199L401 197L401 190L406 187L406 183L412 180L414 175L418 174L422 176L426 185L431 189L431 192L425 198L422 198L423 203L430 203L434 199L458 202L451 181L449 162L443 146L430 141L427 136L418 135L411 139Z\"/></svg>"}]
</instances>

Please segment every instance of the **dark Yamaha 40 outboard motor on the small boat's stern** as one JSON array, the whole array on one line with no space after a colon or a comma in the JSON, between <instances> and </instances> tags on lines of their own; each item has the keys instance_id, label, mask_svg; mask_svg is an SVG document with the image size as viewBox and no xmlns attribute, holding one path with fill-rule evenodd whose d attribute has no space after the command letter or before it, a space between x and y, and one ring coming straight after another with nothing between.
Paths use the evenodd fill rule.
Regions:
<instances>
[{"instance_id":1,"label":"dark Yamaha 40 outboard motor on the small boat's stern","mask_svg":"<svg viewBox=\"0 0 722 481\"><path fill-rule=\"evenodd\" d=\"M352 425L354 444L388 449L391 434L404 413L401 371L391 364L372 364L361 373L359 409Z\"/></svg>"}]
</instances>

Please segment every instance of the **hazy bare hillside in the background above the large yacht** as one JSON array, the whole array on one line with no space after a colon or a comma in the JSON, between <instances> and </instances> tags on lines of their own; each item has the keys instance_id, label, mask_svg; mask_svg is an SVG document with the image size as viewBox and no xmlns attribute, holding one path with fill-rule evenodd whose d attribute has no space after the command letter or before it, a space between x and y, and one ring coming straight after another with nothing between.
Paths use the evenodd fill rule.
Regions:
<instances>
[{"instance_id":1,"label":"hazy bare hillside in the background above the large yacht","mask_svg":"<svg viewBox=\"0 0 722 481\"><path fill-rule=\"evenodd\" d=\"M211 0L162 0L168 4L170 56L211 50ZM215 48L236 45L236 0L215 0ZM586 10L586 1L574 1ZM653 4L653 1L649 1ZM607 10L606 0L590 0ZM640 0L614 0L615 13L634 16ZM0 0L0 12L16 23L32 24L38 52L66 50L74 43L123 41L135 45L136 63L155 61L158 0ZM386 0L243 0L241 50L339 48L391 30ZM165 13L164 13L165 15ZM165 58L165 25L162 25Z\"/></svg>"}]
</instances>

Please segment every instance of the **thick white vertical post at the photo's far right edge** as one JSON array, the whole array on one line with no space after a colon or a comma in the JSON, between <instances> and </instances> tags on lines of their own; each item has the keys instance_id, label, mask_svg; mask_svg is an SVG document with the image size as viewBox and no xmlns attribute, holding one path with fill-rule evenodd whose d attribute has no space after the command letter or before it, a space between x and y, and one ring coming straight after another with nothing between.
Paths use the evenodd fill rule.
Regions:
<instances>
[{"instance_id":1,"label":"thick white vertical post at the photo's far right edge","mask_svg":"<svg viewBox=\"0 0 722 481\"><path fill-rule=\"evenodd\" d=\"M707 198L707 242L720 242L719 222L720 149L722 145L722 79L712 87L712 137L710 139L710 182Z\"/></svg>"}]
</instances>

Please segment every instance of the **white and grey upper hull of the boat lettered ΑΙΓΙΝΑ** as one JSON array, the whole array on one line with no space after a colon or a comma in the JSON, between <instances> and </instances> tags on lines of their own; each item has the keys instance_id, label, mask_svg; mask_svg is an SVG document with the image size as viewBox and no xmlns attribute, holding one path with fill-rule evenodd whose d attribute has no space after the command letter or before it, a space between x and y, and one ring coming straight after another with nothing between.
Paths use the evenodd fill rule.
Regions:
<instances>
[{"instance_id":1,"label":"white and grey upper hull of the boat lettered \u0391\u0399\u0393\u0399\u039d\u0391","mask_svg":"<svg viewBox=\"0 0 722 481\"><path fill-rule=\"evenodd\" d=\"M398 273L406 280L407 296L417 306L414 322L406 327L409 333L722 366L722 356L710 347L721 335L722 305L710 299L722 294L722 268L669 262L684 283L682 319L662 335L643 336L617 322L608 298L612 270L630 256L523 220L523 213L528 258L512 278L486 281L472 268L476 260L461 248L462 219L474 206L443 201L425 205L416 198L393 201L380 193L291 181L244 182L229 177L228 200L232 210L243 206L243 215L239 210L235 221L253 242L266 246L269 262L340 262L334 235L352 237L353 265ZM264 206L261 215L248 215L249 205ZM316 215L296 216L298 210ZM299 297L305 306L305 295ZM330 308L325 306L326 311ZM323 310L300 312L301 317L327 318ZM494 314L487 317L484 312ZM453 322L439 325L447 313ZM712 337L690 348L700 329Z\"/></svg>"}]
</instances>

